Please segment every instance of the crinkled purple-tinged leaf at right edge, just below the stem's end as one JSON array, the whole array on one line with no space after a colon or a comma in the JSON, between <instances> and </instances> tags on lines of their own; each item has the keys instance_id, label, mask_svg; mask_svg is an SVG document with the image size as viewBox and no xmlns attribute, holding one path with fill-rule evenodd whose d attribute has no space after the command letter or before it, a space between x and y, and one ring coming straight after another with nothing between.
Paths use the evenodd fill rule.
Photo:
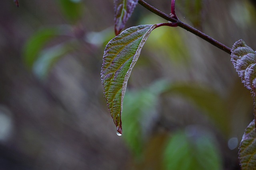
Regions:
<instances>
[{"instance_id":1,"label":"crinkled purple-tinged leaf at right edge, just below the stem's end","mask_svg":"<svg viewBox=\"0 0 256 170\"><path fill-rule=\"evenodd\" d=\"M231 61L244 86L255 96L256 88L256 54L253 49L240 39L234 43L231 50Z\"/></svg>"}]
</instances>

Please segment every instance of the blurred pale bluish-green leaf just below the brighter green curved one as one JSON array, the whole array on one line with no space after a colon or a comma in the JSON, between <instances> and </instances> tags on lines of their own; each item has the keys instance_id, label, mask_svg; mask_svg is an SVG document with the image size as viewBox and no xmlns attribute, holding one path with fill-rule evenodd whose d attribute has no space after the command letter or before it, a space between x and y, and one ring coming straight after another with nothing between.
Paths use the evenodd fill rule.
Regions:
<instances>
[{"instance_id":1,"label":"blurred pale bluish-green leaf just below the brighter green curved one","mask_svg":"<svg viewBox=\"0 0 256 170\"><path fill-rule=\"evenodd\" d=\"M50 68L64 55L74 50L69 43L62 43L44 49L33 65L33 72L39 78L45 78Z\"/></svg>"}]
</instances>

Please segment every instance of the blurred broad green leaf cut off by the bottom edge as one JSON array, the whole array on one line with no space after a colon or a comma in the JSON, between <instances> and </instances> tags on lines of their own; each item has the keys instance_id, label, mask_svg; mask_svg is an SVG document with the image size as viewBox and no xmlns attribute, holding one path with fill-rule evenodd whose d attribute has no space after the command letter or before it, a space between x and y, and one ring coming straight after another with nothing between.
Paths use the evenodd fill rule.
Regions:
<instances>
[{"instance_id":1,"label":"blurred broad green leaf cut off by the bottom edge","mask_svg":"<svg viewBox=\"0 0 256 170\"><path fill-rule=\"evenodd\" d=\"M195 125L174 133L163 153L164 170L220 170L221 158L215 139Z\"/></svg>"}]
</instances>

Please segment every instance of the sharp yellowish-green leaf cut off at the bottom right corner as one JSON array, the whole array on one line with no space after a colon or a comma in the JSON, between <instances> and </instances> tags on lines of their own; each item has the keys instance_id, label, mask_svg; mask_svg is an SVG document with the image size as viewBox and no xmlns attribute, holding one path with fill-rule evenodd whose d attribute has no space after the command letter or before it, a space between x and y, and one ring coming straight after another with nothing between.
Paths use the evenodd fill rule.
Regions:
<instances>
[{"instance_id":1,"label":"sharp yellowish-green leaf cut off at the bottom right corner","mask_svg":"<svg viewBox=\"0 0 256 170\"><path fill-rule=\"evenodd\" d=\"M242 170L255 170L256 167L256 132L255 120L246 128L239 147L239 159Z\"/></svg>"}]
</instances>

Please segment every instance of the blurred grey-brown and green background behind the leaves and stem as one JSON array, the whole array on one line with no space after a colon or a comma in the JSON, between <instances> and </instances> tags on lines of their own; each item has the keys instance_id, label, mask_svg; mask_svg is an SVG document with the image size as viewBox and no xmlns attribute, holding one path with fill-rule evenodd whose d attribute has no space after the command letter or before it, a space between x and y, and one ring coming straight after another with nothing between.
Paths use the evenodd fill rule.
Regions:
<instances>
[{"instance_id":1,"label":"blurred grey-brown and green background behind the leaves and stem","mask_svg":"<svg viewBox=\"0 0 256 170\"><path fill-rule=\"evenodd\" d=\"M170 14L170 0L146 0ZM100 70L112 0L0 5L0 170L239 170L253 119L230 55L182 28L152 31L124 98L123 135ZM180 20L256 49L255 0L176 0ZM166 22L139 4L126 28Z\"/></svg>"}]
</instances>

